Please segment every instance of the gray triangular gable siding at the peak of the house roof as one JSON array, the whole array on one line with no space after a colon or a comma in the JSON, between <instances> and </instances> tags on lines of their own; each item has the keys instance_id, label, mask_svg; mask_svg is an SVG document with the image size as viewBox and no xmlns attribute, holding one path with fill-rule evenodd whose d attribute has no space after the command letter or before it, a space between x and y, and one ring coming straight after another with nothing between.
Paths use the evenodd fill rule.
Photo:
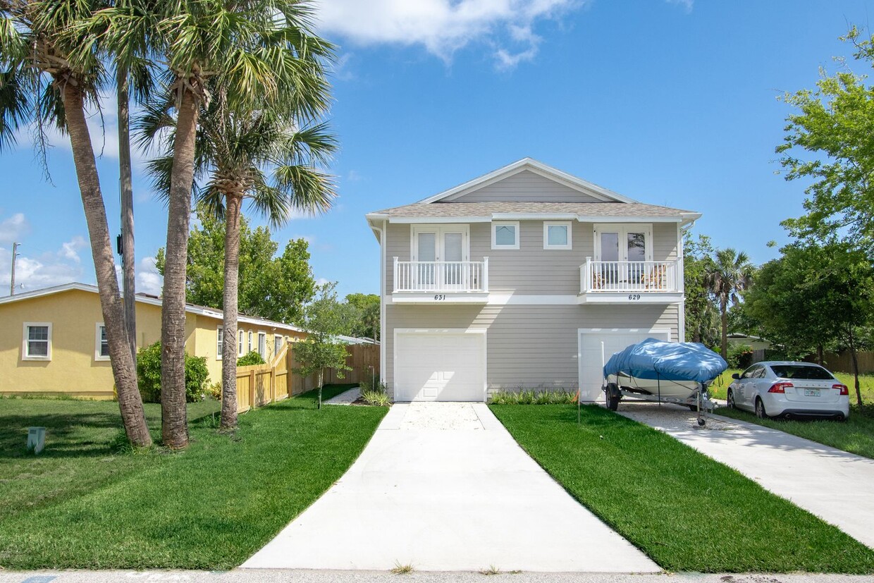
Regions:
<instances>
[{"instance_id":1,"label":"gray triangular gable siding at the peak of the house roof","mask_svg":"<svg viewBox=\"0 0 874 583\"><path fill-rule=\"evenodd\" d=\"M531 170L523 170L494 184L454 198L452 202L596 203L602 202L602 199L594 198L564 184L558 184Z\"/></svg>"}]
</instances>

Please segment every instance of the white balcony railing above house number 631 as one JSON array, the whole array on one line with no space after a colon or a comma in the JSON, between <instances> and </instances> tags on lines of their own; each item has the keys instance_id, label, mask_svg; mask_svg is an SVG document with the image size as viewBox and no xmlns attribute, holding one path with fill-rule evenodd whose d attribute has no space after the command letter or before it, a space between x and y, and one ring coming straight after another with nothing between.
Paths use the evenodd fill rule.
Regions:
<instances>
[{"instance_id":1,"label":"white balcony railing above house number 631","mask_svg":"<svg viewBox=\"0 0 874 583\"><path fill-rule=\"evenodd\" d=\"M399 261L394 258L394 293L488 291L488 257L482 261Z\"/></svg>"}]
</instances>

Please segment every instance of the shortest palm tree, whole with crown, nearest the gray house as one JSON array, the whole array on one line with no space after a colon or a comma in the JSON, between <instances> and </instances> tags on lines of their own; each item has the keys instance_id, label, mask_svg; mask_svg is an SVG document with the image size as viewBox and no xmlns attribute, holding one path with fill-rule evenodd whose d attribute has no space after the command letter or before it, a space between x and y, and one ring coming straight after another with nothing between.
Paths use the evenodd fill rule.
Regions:
<instances>
[{"instance_id":1,"label":"shortest palm tree, whole with crown, nearest the gray house","mask_svg":"<svg viewBox=\"0 0 874 583\"><path fill-rule=\"evenodd\" d=\"M288 220L289 211L327 211L335 197L329 177L316 169L328 162L336 141L324 123L299 128L294 111L273 108L232 111L225 94L200 113L195 176L205 178L197 194L208 212L225 221L225 288L223 297L221 428L237 427L237 317L239 296L239 228L242 205L249 199L272 226ZM142 119L145 140L172 125L164 108L151 108ZM169 156L151 163L156 187L170 186Z\"/></svg>"}]
</instances>

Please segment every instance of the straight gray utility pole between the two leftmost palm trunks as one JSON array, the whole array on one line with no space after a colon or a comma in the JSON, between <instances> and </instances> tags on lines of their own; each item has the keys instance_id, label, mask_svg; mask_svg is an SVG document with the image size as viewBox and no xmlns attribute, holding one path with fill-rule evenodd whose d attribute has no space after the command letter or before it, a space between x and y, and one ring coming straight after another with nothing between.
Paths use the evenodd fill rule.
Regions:
<instances>
[{"instance_id":1,"label":"straight gray utility pole between the two leftmost palm trunks","mask_svg":"<svg viewBox=\"0 0 874 583\"><path fill-rule=\"evenodd\" d=\"M130 103L128 71L120 68L118 98L118 168L121 190L121 272L124 288L124 325L130 353L136 362L136 275L134 256L134 187L130 167Z\"/></svg>"}]
</instances>

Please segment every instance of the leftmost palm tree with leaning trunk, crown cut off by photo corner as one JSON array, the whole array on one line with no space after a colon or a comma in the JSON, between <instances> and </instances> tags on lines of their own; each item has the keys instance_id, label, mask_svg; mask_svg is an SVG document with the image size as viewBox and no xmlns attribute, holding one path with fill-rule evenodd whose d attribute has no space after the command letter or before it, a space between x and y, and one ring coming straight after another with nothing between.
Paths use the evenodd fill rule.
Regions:
<instances>
[{"instance_id":1,"label":"leftmost palm tree with leaning trunk, crown cut off by photo corner","mask_svg":"<svg viewBox=\"0 0 874 583\"><path fill-rule=\"evenodd\" d=\"M106 207L85 115L87 106L99 107L98 90L105 73L92 38L80 24L99 8L101 3L85 0L0 2L0 148L14 142L17 129L30 121L37 123L41 150L46 123L56 124L70 137L121 419L128 440L148 446L151 437L128 348Z\"/></svg>"}]
</instances>

